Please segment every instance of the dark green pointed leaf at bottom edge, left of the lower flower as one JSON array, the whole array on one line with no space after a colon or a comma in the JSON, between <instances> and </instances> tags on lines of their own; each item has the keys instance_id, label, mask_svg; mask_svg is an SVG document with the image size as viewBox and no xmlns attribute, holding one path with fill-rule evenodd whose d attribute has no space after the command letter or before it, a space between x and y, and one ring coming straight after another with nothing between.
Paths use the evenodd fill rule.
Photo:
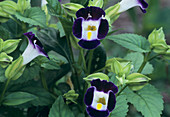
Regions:
<instances>
[{"instance_id":1,"label":"dark green pointed leaf at bottom edge, left of the lower flower","mask_svg":"<svg viewBox=\"0 0 170 117\"><path fill-rule=\"evenodd\" d=\"M62 96L59 96L52 105L48 117L74 117L74 114L64 103Z\"/></svg>"}]
</instances>

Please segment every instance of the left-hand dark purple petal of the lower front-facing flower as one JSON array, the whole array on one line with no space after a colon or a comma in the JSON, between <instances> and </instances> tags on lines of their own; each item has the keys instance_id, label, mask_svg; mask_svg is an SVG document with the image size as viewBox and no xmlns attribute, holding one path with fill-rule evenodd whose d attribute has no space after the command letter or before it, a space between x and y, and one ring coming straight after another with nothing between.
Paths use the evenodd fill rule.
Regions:
<instances>
[{"instance_id":1,"label":"left-hand dark purple petal of the lower front-facing flower","mask_svg":"<svg viewBox=\"0 0 170 117\"><path fill-rule=\"evenodd\" d=\"M87 92L84 96L84 103L87 106L90 106L93 101L94 87L90 87L87 89Z\"/></svg>"}]
</instances>

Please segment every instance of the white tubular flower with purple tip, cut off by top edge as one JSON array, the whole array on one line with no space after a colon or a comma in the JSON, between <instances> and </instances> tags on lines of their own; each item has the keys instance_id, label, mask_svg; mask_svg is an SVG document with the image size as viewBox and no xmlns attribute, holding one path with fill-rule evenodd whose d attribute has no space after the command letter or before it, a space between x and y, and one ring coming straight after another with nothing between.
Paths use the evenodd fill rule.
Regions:
<instances>
[{"instance_id":1,"label":"white tubular flower with purple tip, cut off by top edge","mask_svg":"<svg viewBox=\"0 0 170 117\"><path fill-rule=\"evenodd\" d=\"M140 6L143 13L146 13L148 3L145 0L122 0L120 3L119 13L124 12L132 7Z\"/></svg>"}]
</instances>

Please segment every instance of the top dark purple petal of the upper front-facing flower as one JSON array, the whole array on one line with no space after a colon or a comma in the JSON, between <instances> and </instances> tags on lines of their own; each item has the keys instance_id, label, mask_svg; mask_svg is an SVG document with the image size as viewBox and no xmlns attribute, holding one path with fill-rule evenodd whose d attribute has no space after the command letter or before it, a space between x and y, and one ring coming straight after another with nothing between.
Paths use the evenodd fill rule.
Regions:
<instances>
[{"instance_id":1,"label":"top dark purple petal of the upper front-facing flower","mask_svg":"<svg viewBox=\"0 0 170 117\"><path fill-rule=\"evenodd\" d=\"M76 16L77 18L83 17L86 20L88 18L88 14L92 16L93 20L98 20L100 17L102 17L102 15L105 16L103 9L94 6L79 9L76 13Z\"/></svg>"}]
</instances>

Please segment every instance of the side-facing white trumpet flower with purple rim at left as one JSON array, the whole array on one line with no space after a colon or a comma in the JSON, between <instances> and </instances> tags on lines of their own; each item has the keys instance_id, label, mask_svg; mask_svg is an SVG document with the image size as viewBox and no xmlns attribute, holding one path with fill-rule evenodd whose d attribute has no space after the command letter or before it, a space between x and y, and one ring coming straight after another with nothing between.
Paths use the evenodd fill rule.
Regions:
<instances>
[{"instance_id":1,"label":"side-facing white trumpet flower with purple rim at left","mask_svg":"<svg viewBox=\"0 0 170 117\"><path fill-rule=\"evenodd\" d=\"M35 37L32 32L28 32L24 34L28 38L28 46L25 49L23 56L23 65L26 65L30 61L32 61L37 56L45 56L49 59L47 53L44 51L41 42Z\"/></svg>"}]
</instances>

